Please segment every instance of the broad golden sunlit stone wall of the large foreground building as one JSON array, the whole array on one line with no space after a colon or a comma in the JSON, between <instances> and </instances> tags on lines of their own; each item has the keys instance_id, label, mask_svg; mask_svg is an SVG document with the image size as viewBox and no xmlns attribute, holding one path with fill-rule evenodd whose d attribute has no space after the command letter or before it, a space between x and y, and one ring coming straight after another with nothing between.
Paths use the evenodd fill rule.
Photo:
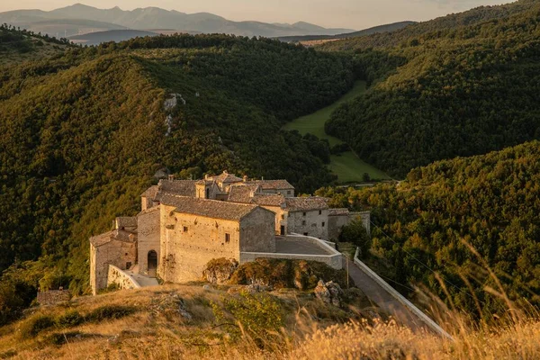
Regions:
<instances>
[{"instance_id":1,"label":"broad golden sunlit stone wall of the large foreground building","mask_svg":"<svg viewBox=\"0 0 540 360\"><path fill-rule=\"evenodd\" d=\"M213 258L239 258L240 224L175 212L160 206L161 248L157 275L169 283L199 280ZM185 228L185 229L184 229ZM226 234L229 234L227 241Z\"/></svg>"}]
</instances>

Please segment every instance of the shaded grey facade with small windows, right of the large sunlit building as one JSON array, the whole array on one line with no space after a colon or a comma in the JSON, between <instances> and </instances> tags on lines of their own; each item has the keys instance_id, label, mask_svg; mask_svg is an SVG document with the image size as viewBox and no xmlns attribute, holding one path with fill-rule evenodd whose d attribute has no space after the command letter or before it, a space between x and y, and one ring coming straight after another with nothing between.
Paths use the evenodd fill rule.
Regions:
<instances>
[{"instance_id":1,"label":"shaded grey facade with small windows, right of the large sunlit building","mask_svg":"<svg viewBox=\"0 0 540 360\"><path fill-rule=\"evenodd\" d=\"M305 215L304 215L305 213ZM329 211L293 211L289 212L287 232L307 235L314 238L329 239Z\"/></svg>"}]
</instances>

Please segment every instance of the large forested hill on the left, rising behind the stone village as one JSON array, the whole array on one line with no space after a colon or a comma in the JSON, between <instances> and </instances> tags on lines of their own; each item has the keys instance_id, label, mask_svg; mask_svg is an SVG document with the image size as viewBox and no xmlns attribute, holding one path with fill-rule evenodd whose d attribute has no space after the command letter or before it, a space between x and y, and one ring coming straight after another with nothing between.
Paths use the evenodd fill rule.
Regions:
<instances>
[{"instance_id":1,"label":"large forested hill on the left, rising behind the stone village","mask_svg":"<svg viewBox=\"0 0 540 360\"><path fill-rule=\"evenodd\" d=\"M274 40L183 35L3 67L0 270L26 269L4 279L84 291L88 238L135 214L163 166L287 178L304 192L329 184L328 145L280 128L347 91L344 61ZM165 111L171 93L178 106Z\"/></svg>"}]
</instances>

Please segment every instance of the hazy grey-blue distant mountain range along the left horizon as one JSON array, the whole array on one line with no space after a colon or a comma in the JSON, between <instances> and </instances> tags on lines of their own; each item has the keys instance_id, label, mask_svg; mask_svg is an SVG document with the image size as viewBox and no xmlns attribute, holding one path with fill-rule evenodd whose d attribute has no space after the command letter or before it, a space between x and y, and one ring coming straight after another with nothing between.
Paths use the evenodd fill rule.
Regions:
<instances>
[{"instance_id":1,"label":"hazy grey-blue distant mountain range along the left horizon","mask_svg":"<svg viewBox=\"0 0 540 360\"><path fill-rule=\"evenodd\" d=\"M139 30L162 32L157 29L181 32L228 33L242 36L282 37L293 35L335 35L351 29L326 29L311 23L232 22L208 13L184 14L147 7L124 11L119 7L97 9L74 4L49 12L15 10L0 13L0 23L55 37L80 36L95 31Z\"/></svg>"}]
</instances>

